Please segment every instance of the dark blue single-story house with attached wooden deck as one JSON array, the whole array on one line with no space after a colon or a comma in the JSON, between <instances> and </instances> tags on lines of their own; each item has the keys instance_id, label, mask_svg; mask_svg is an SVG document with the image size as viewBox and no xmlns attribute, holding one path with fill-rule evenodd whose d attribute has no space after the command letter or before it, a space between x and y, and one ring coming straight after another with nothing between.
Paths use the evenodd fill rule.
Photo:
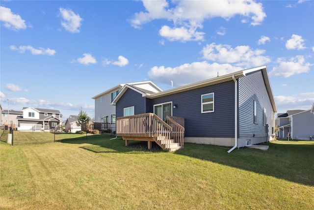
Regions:
<instances>
[{"instance_id":1,"label":"dark blue single-story house with attached wooden deck","mask_svg":"<svg viewBox=\"0 0 314 210\"><path fill-rule=\"evenodd\" d=\"M150 141L164 145L167 137L149 139L165 133L155 130L163 126L158 116L176 121L173 124L184 131L184 142L233 147L228 152L272 140L277 112L266 66L157 93L127 84L111 104L116 107L117 135L126 145L129 140L148 141L149 148ZM146 113L154 113L153 120ZM181 127L179 120L171 120L175 118L183 122Z\"/></svg>"}]
</instances>

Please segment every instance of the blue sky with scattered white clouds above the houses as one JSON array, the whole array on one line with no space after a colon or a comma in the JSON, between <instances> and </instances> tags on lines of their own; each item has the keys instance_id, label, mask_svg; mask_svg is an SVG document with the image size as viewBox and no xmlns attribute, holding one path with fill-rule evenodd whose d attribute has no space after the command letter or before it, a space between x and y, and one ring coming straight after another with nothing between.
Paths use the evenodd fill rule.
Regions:
<instances>
[{"instance_id":1,"label":"blue sky with scattered white clouds above the houses","mask_svg":"<svg viewBox=\"0 0 314 210\"><path fill-rule=\"evenodd\" d=\"M266 65L278 112L314 103L314 1L0 1L3 109L63 120L118 84L162 90Z\"/></svg>"}]
</instances>

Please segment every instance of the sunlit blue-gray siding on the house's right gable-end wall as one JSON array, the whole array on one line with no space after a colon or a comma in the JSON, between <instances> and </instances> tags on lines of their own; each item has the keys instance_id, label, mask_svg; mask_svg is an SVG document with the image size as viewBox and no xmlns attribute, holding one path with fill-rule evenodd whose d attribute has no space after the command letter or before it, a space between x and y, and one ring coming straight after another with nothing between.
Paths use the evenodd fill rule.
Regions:
<instances>
[{"instance_id":1,"label":"sunlit blue-gray siding on the house's right gable-end wall","mask_svg":"<svg viewBox=\"0 0 314 210\"><path fill-rule=\"evenodd\" d=\"M262 71L248 73L238 81L238 137L267 137L266 126L263 125L263 108L266 109L266 124L269 125L268 136L270 136L272 134L273 109L265 87ZM258 105L257 123L254 123L254 101L257 101Z\"/></svg>"}]
</instances>

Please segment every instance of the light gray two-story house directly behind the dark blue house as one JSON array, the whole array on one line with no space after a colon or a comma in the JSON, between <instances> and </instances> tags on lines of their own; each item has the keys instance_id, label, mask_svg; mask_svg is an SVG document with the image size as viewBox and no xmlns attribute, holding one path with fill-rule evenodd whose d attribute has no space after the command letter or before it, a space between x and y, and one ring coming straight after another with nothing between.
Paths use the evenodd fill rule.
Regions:
<instances>
[{"instance_id":1,"label":"light gray two-story house directly behind the dark blue house","mask_svg":"<svg viewBox=\"0 0 314 210\"><path fill-rule=\"evenodd\" d=\"M109 90L106 90L98 95L92 97L95 99L95 122L106 123L107 127L112 131L115 131L116 124L116 110L114 106L111 106L111 102L113 99L119 94L119 91L126 84L117 85ZM154 83L148 82L138 82L138 83L130 83L129 85L133 85L140 89L150 90L152 92L160 92L162 91L159 87L157 87Z\"/></svg>"}]
</instances>

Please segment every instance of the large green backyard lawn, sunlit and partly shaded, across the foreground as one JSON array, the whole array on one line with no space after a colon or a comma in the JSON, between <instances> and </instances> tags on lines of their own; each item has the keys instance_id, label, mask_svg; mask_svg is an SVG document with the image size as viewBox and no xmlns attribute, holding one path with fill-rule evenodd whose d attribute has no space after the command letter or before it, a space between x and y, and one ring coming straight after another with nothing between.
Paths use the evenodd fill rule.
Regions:
<instances>
[{"instance_id":1,"label":"large green backyard lawn, sunlit and partly shaded, across the foreground","mask_svg":"<svg viewBox=\"0 0 314 210\"><path fill-rule=\"evenodd\" d=\"M274 141L267 151L231 153L186 143L165 152L156 144L151 151L147 143L124 147L123 140L104 134L59 134L66 139L60 142L47 142L51 133L27 135L36 135L37 144L10 146L1 136L1 210L314 207L314 142Z\"/></svg>"}]
</instances>

